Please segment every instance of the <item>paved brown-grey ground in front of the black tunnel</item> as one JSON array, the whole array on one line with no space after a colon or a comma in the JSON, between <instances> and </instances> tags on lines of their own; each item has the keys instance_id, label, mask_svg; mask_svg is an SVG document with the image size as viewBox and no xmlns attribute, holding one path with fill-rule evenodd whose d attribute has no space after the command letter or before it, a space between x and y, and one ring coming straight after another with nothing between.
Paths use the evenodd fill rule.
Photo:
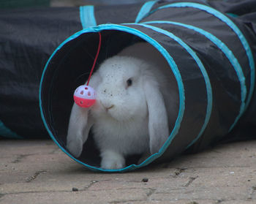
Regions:
<instances>
[{"instance_id":1,"label":"paved brown-grey ground in front of the black tunnel","mask_svg":"<svg viewBox=\"0 0 256 204\"><path fill-rule=\"evenodd\" d=\"M3 204L256 203L256 140L132 173L86 170L51 140L0 140L0 162Z\"/></svg>"}]
</instances>

